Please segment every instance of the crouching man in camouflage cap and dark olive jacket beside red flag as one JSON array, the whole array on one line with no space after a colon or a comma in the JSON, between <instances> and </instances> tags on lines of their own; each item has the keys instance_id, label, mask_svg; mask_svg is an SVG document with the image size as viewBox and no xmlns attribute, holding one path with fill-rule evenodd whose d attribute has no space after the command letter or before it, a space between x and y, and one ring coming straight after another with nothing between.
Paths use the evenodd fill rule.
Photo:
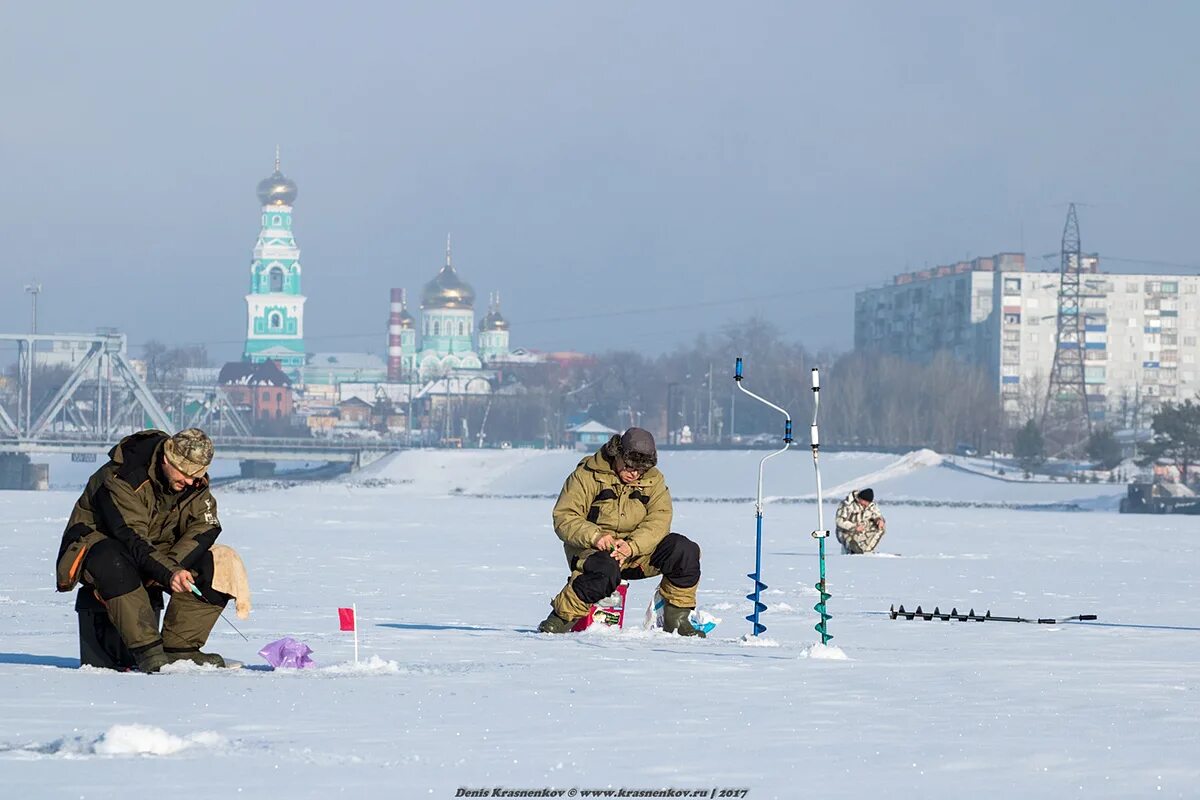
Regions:
<instances>
[{"instance_id":1,"label":"crouching man in camouflage cap and dark olive jacket beside red flag","mask_svg":"<svg viewBox=\"0 0 1200 800\"><path fill-rule=\"evenodd\" d=\"M142 672L185 658L223 667L221 656L200 652L229 601L212 588L210 548L221 533L206 474L212 440L199 428L173 437L142 431L121 439L108 457L62 534L58 590L82 582L80 600L90 590L103 604ZM160 636L155 604L162 608L163 590L170 603Z\"/></svg>"}]
</instances>

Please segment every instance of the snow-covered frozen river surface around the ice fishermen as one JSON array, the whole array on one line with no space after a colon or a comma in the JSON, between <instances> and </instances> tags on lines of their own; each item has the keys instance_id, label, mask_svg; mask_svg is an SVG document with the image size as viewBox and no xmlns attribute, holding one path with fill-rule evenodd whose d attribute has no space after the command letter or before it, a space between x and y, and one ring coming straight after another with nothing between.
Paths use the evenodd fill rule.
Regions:
<instances>
[{"instance_id":1,"label":"snow-covered frozen river surface around the ice fishermen","mask_svg":"<svg viewBox=\"0 0 1200 800\"><path fill-rule=\"evenodd\" d=\"M637 630L652 581L624 631L530 632L565 578L550 510L577 453L407 452L217 489L254 612L227 612L248 643L218 621L209 649L248 668L162 675L78 668L52 564L77 489L2 492L0 796L1200 796L1200 519L1117 515L1122 487L829 453L827 524L870 485L889 533L884 554L829 548L835 646L815 648L800 450L768 462L768 630L748 644L762 455L662 455L701 607L724 620L707 640ZM892 621L893 603L1099 624ZM317 668L270 672L257 650L283 636Z\"/></svg>"}]
</instances>

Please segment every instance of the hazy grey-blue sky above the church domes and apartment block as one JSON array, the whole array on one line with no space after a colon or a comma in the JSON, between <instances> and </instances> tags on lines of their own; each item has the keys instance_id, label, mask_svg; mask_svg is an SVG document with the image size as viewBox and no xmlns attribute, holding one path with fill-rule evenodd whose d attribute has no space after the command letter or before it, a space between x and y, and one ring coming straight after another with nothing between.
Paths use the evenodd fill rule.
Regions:
<instances>
[{"instance_id":1,"label":"hazy grey-blue sky above the church domes and apartment block","mask_svg":"<svg viewBox=\"0 0 1200 800\"><path fill-rule=\"evenodd\" d=\"M1195 271L1186 2L0 6L0 318L240 356L257 182L299 186L310 351L382 354L454 246L511 344L666 351L1078 203L1108 269ZM1193 265L1193 266L1188 266ZM484 308L482 311L486 311ZM480 311L480 313L482 313Z\"/></svg>"}]
</instances>

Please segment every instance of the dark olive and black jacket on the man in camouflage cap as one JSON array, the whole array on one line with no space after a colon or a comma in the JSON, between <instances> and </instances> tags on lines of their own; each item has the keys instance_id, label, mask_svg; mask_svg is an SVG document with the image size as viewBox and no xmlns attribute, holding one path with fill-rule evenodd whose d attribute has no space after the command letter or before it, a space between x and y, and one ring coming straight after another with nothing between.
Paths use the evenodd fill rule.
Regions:
<instances>
[{"instance_id":1,"label":"dark olive and black jacket on the man in camouflage cap","mask_svg":"<svg viewBox=\"0 0 1200 800\"><path fill-rule=\"evenodd\" d=\"M108 451L108 463L88 480L62 534L59 591L76 585L88 549L106 536L125 546L144 578L163 587L212 547L221 523L208 475L172 492L161 467L167 439L162 431L142 431Z\"/></svg>"}]
</instances>

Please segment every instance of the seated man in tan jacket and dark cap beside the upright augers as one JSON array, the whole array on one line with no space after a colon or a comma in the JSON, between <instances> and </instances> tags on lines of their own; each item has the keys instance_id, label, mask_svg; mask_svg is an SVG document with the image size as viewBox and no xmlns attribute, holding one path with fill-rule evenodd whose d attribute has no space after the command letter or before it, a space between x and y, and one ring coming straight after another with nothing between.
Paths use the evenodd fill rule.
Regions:
<instances>
[{"instance_id":1,"label":"seated man in tan jacket and dark cap beside the upright augers","mask_svg":"<svg viewBox=\"0 0 1200 800\"><path fill-rule=\"evenodd\" d=\"M700 546L670 533L671 491L655 464L654 437L630 428L581 461L566 479L553 517L571 576L539 631L570 631L622 578L661 575L665 630L704 636L688 620L696 607Z\"/></svg>"}]
</instances>

